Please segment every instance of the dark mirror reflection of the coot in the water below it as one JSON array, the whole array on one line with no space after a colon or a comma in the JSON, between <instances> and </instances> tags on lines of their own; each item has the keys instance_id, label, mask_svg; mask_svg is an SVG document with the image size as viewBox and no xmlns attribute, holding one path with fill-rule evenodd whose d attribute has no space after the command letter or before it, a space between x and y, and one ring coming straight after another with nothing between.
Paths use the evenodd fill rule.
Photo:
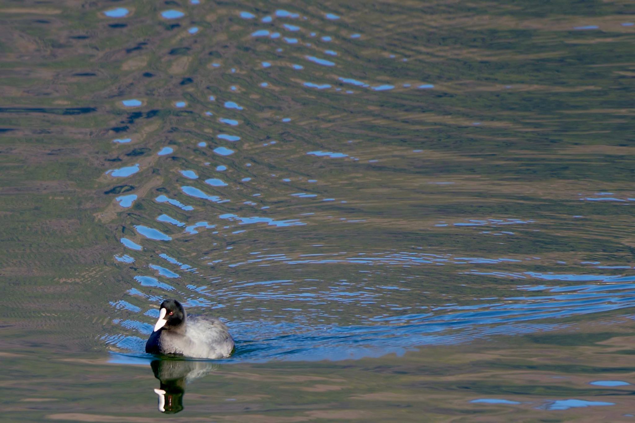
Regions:
<instances>
[{"instance_id":1,"label":"dark mirror reflection of the coot in the water below it","mask_svg":"<svg viewBox=\"0 0 635 423\"><path fill-rule=\"evenodd\" d=\"M185 384L209 374L218 365L209 361L153 360L150 367L161 382L159 389L154 389L159 396L159 411L174 414L183 410Z\"/></svg>"}]
</instances>

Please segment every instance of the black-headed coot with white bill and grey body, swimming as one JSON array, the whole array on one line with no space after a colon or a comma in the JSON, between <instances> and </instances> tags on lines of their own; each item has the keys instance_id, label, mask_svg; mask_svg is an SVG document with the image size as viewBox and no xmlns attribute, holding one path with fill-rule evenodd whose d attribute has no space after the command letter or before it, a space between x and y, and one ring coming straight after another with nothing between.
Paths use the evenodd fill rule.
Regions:
<instances>
[{"instance_id":1,"label":"black-headed coot with white bill and grey body, swimming","mask_svg":"<svg viewBox=\"0 0 635 423\"><path fill-rule=\"evenodd\" d=\"M174 354L191 358L226 358L234 351L234 339L225 323L211 316L188 316L175 299L159 308L159 320L145 343L150 354Z\"/></svg>"}]
</instances>

